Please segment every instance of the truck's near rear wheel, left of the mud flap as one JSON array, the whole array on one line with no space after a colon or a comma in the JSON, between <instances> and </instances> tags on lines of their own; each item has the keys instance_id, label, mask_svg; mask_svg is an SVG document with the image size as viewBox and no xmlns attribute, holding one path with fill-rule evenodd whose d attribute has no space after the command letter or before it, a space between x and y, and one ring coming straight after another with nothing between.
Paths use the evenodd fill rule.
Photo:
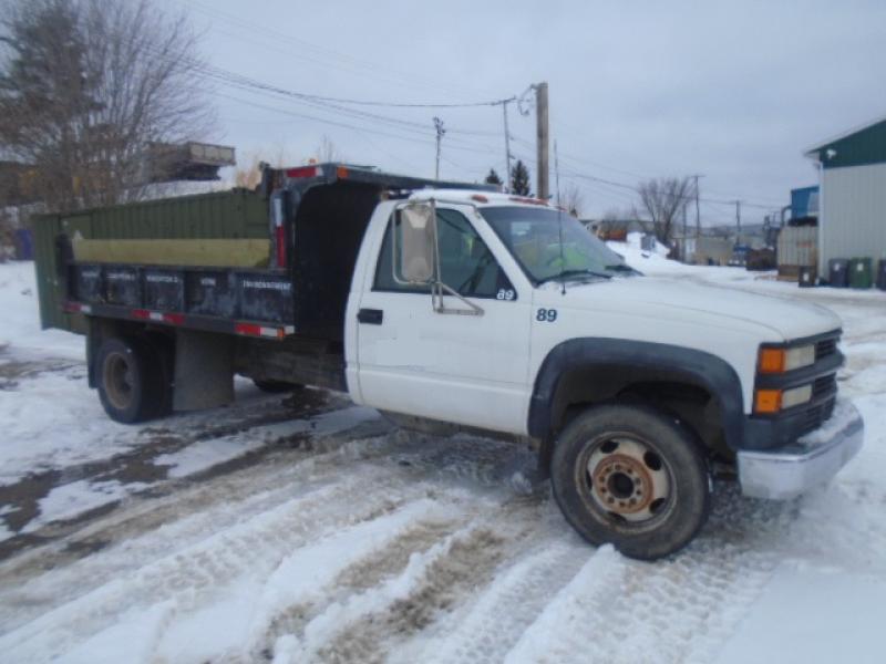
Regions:
<instances>
[{"instance_id":1,"label":"truck's near rear wheel, left of the mud flap","mask_svg":"<svg viewBox=\"0 0 886 664\"><path fill-rule=\"evenodd\" d=\"M164 372L155 352L135 339L107 339L95 357L99 398L109 417L133 424L163 411Z\"/></svg>"}]
</instances>

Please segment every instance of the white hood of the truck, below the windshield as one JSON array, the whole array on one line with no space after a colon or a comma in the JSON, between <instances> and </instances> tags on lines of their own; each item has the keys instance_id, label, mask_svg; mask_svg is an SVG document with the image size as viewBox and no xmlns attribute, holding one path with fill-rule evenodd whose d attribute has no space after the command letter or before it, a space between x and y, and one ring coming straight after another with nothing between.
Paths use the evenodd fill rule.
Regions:
<instances>
[{"instance_id":1,"label":"white hood of the truck, below the windshield","mask_svg":"<svg viewBox=\"0 0 886 664\"><path fill-rule=\"evenodd\" d=\"M559 295L559 284L554 286ZM598 311L635 308L663 319L694 318L702 324L712 322L712 317L724 319L724 323L742 321L766 328L782 341L813 336L841 326L834 312L817 304L672 279L615 278L607 282L567 284L566 291L568 305L593 307ZM567 304L563 298L560 302Z\"/></svg>"}]
</instances>

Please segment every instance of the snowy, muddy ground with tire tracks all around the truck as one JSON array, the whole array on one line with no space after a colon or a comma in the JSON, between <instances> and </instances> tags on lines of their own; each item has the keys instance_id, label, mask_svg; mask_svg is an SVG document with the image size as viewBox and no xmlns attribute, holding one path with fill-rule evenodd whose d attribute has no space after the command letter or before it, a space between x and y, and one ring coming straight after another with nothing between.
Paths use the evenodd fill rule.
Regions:
<instances>
[{"instance_id":1,"label":"snowy, muddy ground with tire tracks all around the truck","mask_svg":"<svg viewBox=\"0 0 886 664\"><path fill-rule=\"evenodd\" d=\"M0 662L880 662L886 293L615 248L674 288L833 308L859 457L785 504L718 485L699 538L640 563L574 535L527 450L341 395L240 382L116 425L82 340L39 331L32 266L0 264Z\"/></svg>"}]
</instances>

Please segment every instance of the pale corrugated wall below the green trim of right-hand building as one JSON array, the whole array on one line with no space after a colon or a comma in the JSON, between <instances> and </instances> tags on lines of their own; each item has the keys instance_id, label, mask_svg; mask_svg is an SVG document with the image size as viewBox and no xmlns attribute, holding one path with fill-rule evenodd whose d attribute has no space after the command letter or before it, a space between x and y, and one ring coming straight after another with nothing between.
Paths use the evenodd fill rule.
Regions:
<instances>
[{"instance_id":1,"label":"pale corrugated wall below the green trim of right-hand building","mask_svg":"<svg viewBox=\"0 0 886 664\"><path fill-rule=\"evenodd\" d=\"M825 168L818 273L832 258L886 258L886 164Z\"/></svg>"}]
</instances>

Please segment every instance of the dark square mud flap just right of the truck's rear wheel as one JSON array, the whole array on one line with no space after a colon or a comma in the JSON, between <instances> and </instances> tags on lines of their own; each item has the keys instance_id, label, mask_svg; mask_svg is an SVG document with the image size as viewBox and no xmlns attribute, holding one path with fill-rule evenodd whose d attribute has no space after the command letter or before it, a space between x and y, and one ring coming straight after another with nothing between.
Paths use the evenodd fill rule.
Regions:
<instances>
[{"instance_id":1,"label":"dark square mud flap just right of the truck's rear wheel","mask_svg":"<svg viewBox=\"0 0 886 664\"><path fill-rule=\"evenodd\" d=\"M176 331L173 409L215 408L234 401L234 338Z\"/></svg>"}]
</instances>

